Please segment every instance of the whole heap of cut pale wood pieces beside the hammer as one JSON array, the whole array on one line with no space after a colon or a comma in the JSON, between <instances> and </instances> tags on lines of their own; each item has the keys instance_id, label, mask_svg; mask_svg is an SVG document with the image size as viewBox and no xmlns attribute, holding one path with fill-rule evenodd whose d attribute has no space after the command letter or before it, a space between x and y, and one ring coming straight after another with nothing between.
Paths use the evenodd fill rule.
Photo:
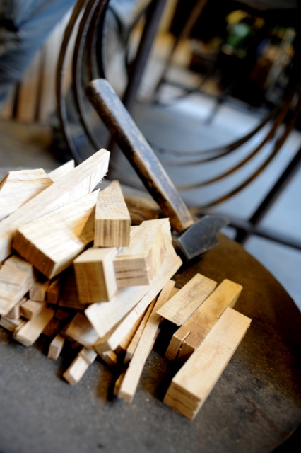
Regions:
<instances>
[{"instance_id":1,"label":"whole heap of cut pale wood pieces beside the hammer","mask_svg":"<svg viewBox=\"0 0 301 453\"><path fill-rule=\"evenodd\" d=\"M25 346L48 336L52 360L71 343L71 385L98 356L123 363L114 393L131 403L167 319L179 329L165 355L185 363L164 402L194 418L249 326L232 309L242 287L197 274L175 288L182 261L158 205L125 200L118 181L95 190L109 156L101 149L48 175L11 172L0 184L0 325Z\"/></svg>"}]
</instances>

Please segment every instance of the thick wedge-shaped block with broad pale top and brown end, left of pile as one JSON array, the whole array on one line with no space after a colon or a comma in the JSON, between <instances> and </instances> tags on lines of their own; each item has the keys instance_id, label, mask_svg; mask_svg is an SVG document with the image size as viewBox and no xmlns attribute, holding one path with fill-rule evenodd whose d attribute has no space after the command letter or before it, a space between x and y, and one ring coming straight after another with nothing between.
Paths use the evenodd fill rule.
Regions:
<instances>
[{"instance_id":1,"label":"thick wedge-shaped block with broad pale top and brown end, left of pile","mask_svg":"<svg viewBox=\"0 0 301 453\"><path fill-rule=\"evenodd\" d=\"M13 248L48 278L68 268L93 241L98 190L21 226Z\"/></svg>"}]
</instances>

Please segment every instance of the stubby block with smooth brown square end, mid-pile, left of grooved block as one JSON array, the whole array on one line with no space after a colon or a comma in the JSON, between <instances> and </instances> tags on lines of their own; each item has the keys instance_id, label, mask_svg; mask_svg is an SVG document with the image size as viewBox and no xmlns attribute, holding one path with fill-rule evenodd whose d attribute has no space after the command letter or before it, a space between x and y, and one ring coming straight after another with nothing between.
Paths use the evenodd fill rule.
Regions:
<instances>
[{"instance_id":1,"label":"stubby block with smooth brown square end, mid-pile, left of grooved block","mask_svg":"<svg viewBox=\"0 0 301 453\"><path fill-rule=\"evenodd\" d=\"M106 302L117 292L117 248L88 248L73 261L78 297L83 304Z\"/></svg>"}]
</instances>

